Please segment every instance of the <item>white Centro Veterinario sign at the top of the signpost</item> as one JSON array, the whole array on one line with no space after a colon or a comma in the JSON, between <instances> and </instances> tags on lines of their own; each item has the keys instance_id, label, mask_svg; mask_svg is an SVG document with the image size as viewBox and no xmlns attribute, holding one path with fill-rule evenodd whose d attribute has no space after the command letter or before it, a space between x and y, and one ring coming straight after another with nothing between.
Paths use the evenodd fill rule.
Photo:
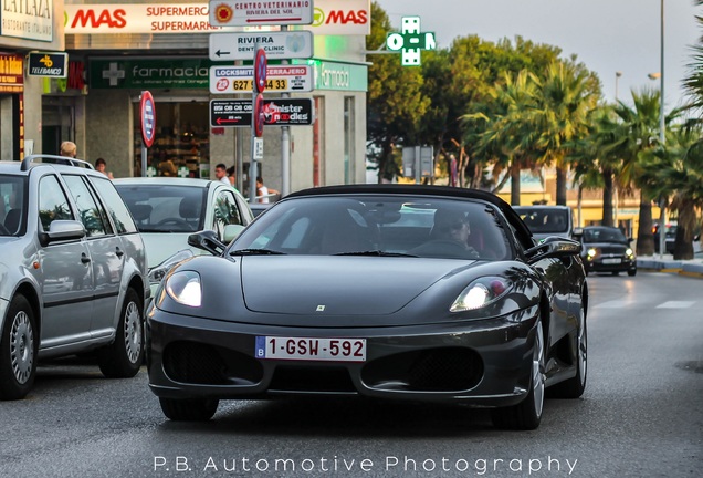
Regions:
<instances>
[{"instance_id":1,"label":"white Centro Veterinario sign at the top of the signpost","mask_svg":"<svg viewBox=\"0 0 703 478\"><path fill-rule=\"evenodd\" d=\"M212 27L288 25L312 22L313 0L271 2L210 0Z\"/></svg>"}]
</instances>

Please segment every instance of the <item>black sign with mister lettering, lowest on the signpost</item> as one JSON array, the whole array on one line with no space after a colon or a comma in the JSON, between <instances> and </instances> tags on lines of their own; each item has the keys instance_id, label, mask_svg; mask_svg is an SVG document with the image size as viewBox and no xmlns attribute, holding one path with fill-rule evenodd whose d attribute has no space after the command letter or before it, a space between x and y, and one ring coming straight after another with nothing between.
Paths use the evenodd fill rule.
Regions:
<instances>
[{"instance_id":1,"label":"black sign with mister lettering, lowest on the signpost","mask_svg":"<svg viewBox=\"0 0 703 478\"><path fill-rule=\"evenodd\" d=\"M249 100L210 100L210 126L251 126L252 102ZM312 98L263 101L265 126L306 126L315 121Z\"/></svg>"}]
</instances>

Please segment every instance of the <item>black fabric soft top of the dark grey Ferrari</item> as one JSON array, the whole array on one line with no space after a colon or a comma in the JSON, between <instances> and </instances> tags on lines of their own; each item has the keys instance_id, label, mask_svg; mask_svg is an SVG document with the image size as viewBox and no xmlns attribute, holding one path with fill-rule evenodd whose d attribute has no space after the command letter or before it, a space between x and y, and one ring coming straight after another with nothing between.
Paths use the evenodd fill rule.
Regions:
<instances>
[{"instance_id":1,"label":"black fabric soft top of the dark grey Ferrari","mask_svg":"<svg viewBox=\"0 0 703 478\"><path fill-rule=\"evenodd\" d=\"M353 194L396 194L396 195L415 195L415 196L444 196L458 197L466 199L479 199L490 202L497 207L506 217L508 222L515 227L515 233L518 240L531 240L532 232L523 222L517 212L513 210L511 205L505 202L499 196L479 189L455 188L449 186L426 186L426 185L399 185L399 184L359 184L359 185L339 185L323 186L316 188L301 189L291 193L285 197L303 197L303 196L333 196L333 195L353 195Z\"/></svg>"}]
</instances>

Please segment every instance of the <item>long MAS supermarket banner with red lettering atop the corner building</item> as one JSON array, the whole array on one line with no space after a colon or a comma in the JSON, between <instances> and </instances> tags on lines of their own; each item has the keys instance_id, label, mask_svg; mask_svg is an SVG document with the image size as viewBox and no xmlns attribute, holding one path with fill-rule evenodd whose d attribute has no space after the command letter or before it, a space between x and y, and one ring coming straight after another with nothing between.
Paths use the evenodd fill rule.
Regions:
<instances>
[{"instance_id":1,"label":"long MAS supermarket banner with red lettering atop the corner building","mask_svg":"<svg viewBox=\"0 0 703 478\"><path fill-rule=\"evenodd\" d=\"M277 3L292 2L280 0ZM301 1L301 0L296 0ZM225 1L223 0L223 3ZM276 3L276 0L251 2ZM64 31L67 34L91 33L209 33L279 30L265 24L252 27L213 27L210 2L202 3L102 3L65 4ZM233 12L234 14L234 12ZM371 31L369 0L314 0L313 23L300 27L315 35L367 35ZM292 27L296 30L296 25Z\"/></svg>"}]
</instances>

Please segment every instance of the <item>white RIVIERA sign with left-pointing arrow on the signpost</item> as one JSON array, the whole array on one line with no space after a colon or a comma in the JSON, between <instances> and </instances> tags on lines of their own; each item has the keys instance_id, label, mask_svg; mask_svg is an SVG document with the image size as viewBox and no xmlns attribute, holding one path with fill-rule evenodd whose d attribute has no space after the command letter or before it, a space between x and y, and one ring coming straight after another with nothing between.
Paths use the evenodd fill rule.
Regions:
<instances>
[{"instance_id":1,"label":"white RIVIERA sign with left-pointing arrow on the signpost","mask_svg":"<svg viewBox=\"0 0 703 478\"><path fill-rule=\"evenodd\" d=\"M256 45L266 59L308 59L313 56L313 33L307 30L282 32L210 33L210 60L251 60Z\"/></svg>"}]
</instances>

